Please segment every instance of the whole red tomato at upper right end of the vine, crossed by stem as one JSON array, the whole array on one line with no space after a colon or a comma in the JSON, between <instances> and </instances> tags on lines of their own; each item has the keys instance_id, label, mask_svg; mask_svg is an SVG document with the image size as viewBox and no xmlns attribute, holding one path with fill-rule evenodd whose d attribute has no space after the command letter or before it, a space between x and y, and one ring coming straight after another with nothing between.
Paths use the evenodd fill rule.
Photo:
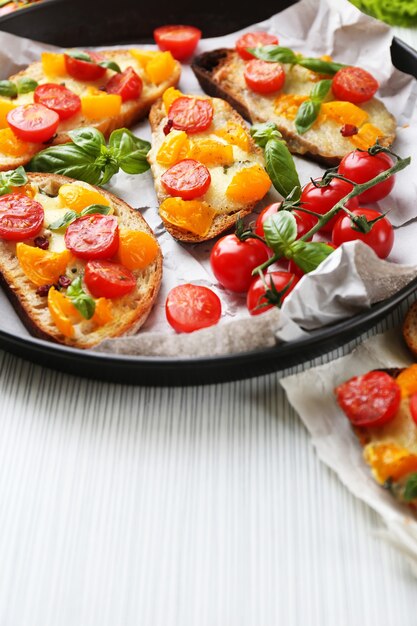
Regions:
<instances>
[{"instance_id":1,"label":"whole red tomato at upper right end of the vine, crossed by stem","mask_svg":"<svg viewBox=\"0 0 417 626\"><path fill-rule=\"evenodd\" d=\"M385 152L380 152L372 156L368 152L362 150L354 150L349 152L340 162L337 171L342 176L353 180L354 183L367 183L378 174L385 172L393 166L393 160ZM385 198L394 187L395 176L390 176L382 183L378 183L367 191L357 196L358 201L362 202L378 202Z\"/></svg>"}]
</instances>

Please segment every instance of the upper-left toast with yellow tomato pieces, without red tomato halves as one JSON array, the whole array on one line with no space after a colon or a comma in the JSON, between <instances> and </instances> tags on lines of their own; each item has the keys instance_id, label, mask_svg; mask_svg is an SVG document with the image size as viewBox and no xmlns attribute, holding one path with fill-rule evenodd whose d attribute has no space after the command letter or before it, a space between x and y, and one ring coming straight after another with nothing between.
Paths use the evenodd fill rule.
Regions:
<instances>
[{"instance_id":1,"label":"upper-left toast with yellow tomato pieces, without red tomato halves","mask_svg":"<svg viewBox=\"0 0 417 626\"><path fill-rule=\"evenodd\" d=\"M176 85L181 75L180 63L175 61L169 52L139 49L100 51L105 61L117 63L122 71L131 67L142 80L142 91L138 98L122 101L118 109L116 107L111 115L106 115L100 112L102 106L95 106L94 97L105 97L105 86L116 75L116 72L107 69L105 75L95 81L76 80L66 73L63 54L52 53L52 70L50 69L51 53L46 53L46 55L49 56L44 57L42 62L32 63L18 74L11 76L10 80L17 82L23 78L31 78L40 85L44 83L65 85L81 98L81 111L60 121L56 135L48 145L70 141L68 132L83 126L94 126L106 137L117 128L132 126L147 116L152 104L168 87ZM48 71L52 75L47 74ZM45 148L44 144L39 143L21 142L17 139L13 142L10 141L10 137L2 141L1 129L8 127L5 111L9 107L31 104L33 101L33 91L14 99L0 98L0 171L25 165L34 154Z\"/></svg>"}]
</instances>

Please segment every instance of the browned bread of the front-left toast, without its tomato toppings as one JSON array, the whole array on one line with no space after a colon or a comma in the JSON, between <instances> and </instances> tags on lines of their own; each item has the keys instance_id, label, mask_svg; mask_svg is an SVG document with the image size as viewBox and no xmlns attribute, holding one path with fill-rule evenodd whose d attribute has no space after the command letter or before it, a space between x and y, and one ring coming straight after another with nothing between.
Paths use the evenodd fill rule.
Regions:
<instances>
[{"instance_id":1,"label":"browned bread of the front-left toast, without its tomato toppings","mask_svg":"<svg viewBox=\"0 0 417 626\"><path fill-rule=\"evenodd\" d=\"M44 227L39 235L50 238L51 251L65 250L63 235L55 236L47 228L57 216L62 217L63 213L69 210L65 207L62 208L62 202L57 197L60 187L64 184L74 184L89 190L96 190L101 196L104 196L112 207L113 215L118 218L119 229L143 231L153 237L151 229L139 211L132 209L123 200L108 191L74 181L65 176L28 174L28 177L31 189L35 193L34 198L43 205L45 212ZM24 243L34 245L33 239ZM133 291L107 301L111 309L111 319L101 324L96 323L94 318L87 320L79 315L71 320L73 324L72 336L63 334L54 323L48 308L48 289L46 289L45 295L39 295L37 284L32 282L19 263L16 242L14 241L0 239L0 278L7 295L15 305L16 312L32 334L68 346L91 348L103 339L135 333L146 321L162 280L162 254L157 243L155 247L156 256L152 262L144 269L132 270L136 279L136 286ZM85 265L86 261L71 256L64 275L70 279L83 276ZM88 293L84 284L83 289ZM65 290L63 293L65 294Z\"/></svg>"}]
</instances>

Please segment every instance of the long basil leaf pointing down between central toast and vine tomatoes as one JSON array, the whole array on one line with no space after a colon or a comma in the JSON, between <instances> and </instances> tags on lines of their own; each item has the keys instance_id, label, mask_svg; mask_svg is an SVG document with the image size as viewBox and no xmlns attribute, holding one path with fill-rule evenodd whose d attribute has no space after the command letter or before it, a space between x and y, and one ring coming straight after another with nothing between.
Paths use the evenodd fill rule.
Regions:
<instances>
[{"instance_id":1,"label":"long basil leaf pointing down between central toast and vine tomatoes","mask_svg":"<svg viewBox=\"0 0 417 626\"><path fill-rule=\"evenodd\" d=\"M284 198L294 189L293 199L301 195L301 184L295 169L294 159L284 141L270 139L265 146L266 171L275 189Z\"/></svg>"}]
</instances>

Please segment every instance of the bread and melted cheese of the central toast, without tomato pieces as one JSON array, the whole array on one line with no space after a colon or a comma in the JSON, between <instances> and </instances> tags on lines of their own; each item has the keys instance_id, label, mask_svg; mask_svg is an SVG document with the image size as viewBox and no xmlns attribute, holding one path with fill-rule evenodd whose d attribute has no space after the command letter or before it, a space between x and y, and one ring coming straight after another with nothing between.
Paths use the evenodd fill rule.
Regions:
<instances>
[{"instance_id":1,"label":"bread and melted cheese of the central toast, without tomato pieces","mask_svg":"<svg viewBox=\"0 0 417 626\"><path fill-rule=\"evenodd\" d=\"M270 186L269 177L264 170L262 151L253 141L241 116L230 106L230 104L219 98L198 96L197 99L210 101L213 105L214 115L213 121L206 131L194 133L188 136L190 146L196 146L199 142L204 142L206 140L215 141L218 142L217 145L219 146L230 146L233 153L233 159L232 162L227 165L210 165L207 163L211 176L210 187L203 196L198 198L198 201L208 204L214 212L214 217L206 232L193 232L192 230L187 229L187 225L174 223L175 220L169 221L166 214L164 214L161 210L162 207L160 207L160 216L164 222L166 230L173 237L175 237L175 239L189 243L206 241L220 235L225 230L231 228L236 223L238 218L251 213L257 202L261 199L257 198L256 200L243 202L230 199L230 197L227 196L228 186L237 172L253 166L259 167L262 169L262 174L268 181L267 188L263 191L262 196L266 194ZM161 183L161 176L168 169L168 166L161 165L158 162L158 153L164 142L169 140L172 134L178 131L171 130L168 135L165 135L164 128L168 122L168 113L167 107L162 99L153 105L149 115L149 121L152 128L152 148L148 154L148 161L151 165L154 176L158 200L160 203L163 203L170 197ZM233 143L233 139L229 142L229 135L227 133L223 133L223 131L229 128L230 125L239 129L239 132L242 135L243 143L242 141L240 142L240 147L236 145L236 143ZM217 135L217 132L219 132L222 136ZM224 138L225 136L226 139ZM242 145L245 148L244 150L242 149ZM183 158L190 158L190 156L186 155L183 156Z\"/></svg>"}]
</instances>

